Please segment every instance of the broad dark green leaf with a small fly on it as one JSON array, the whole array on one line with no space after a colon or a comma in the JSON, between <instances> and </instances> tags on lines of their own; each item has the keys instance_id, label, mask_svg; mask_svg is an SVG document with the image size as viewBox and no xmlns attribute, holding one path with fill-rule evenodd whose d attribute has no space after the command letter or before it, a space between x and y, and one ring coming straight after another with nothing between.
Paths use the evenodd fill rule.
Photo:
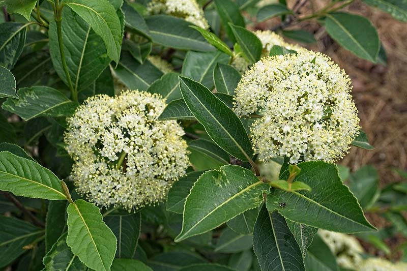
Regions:
<instances>
[{"instance_id":1,"label":"broad dark green leaf with a small fly on it","mask_svg":"<svg viewBox=\"0 0 407 271\"><path fill-rule=\"evenodd\" d=\"M322 161L298 164L301 172L296 181L312 188L311 192L286 192L273 189L267 197L267 208L277 209L289 220L338 232L355 233L375 228L349 189L342 183L335 164ZM282 174L288 177L288 172Z\"/></svg>"}]
</instances>

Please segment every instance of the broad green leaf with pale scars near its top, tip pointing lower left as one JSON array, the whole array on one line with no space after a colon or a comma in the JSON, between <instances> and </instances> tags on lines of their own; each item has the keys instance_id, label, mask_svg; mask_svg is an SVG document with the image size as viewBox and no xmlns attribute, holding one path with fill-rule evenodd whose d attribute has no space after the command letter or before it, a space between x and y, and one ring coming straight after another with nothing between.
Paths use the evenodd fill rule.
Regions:
<instances>
[{"instance_id":1,"label":"broad green leaf with pale scars near its top, tip pointing lower left","mask_svg":"<svg viewBox=\"0 0 407 271\"><path fill-rule=\"evenodd\" d=\"M268 185L240 166L226 165L203 173L185 201L182 230L175 242L207 232L257 207L268 190Z\"/></svg>"}]
</instances>

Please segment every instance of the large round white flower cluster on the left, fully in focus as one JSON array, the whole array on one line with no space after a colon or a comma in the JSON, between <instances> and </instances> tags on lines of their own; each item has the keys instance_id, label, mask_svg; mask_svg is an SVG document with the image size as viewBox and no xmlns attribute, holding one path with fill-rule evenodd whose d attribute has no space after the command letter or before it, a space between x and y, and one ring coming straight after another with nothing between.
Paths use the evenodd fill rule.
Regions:
<instances>
[{"instance_id":1,"label":"large round white flower cluster on the left, fully in focus","mask_svg":"<svg viewBox=\"0 0 407 271\"><path fill-rule=\"evenodd\" d=\"M66 149L77 191L100 206L155 204L189 165L184 131L158 122L159 95L126 91L87 99L68 119Z\"/></svg>"}]
</instances>

